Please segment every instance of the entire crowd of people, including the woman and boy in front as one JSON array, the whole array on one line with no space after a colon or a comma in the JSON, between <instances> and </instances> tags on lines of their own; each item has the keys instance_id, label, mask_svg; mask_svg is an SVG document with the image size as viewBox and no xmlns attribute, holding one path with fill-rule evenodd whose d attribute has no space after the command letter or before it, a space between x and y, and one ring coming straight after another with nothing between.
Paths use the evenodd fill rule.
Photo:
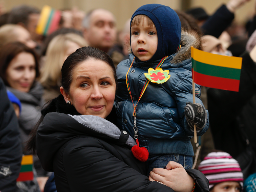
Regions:
<instances>
[{"instance_id":1,"label":"entire crowd of people, including the woman and boy in front","mask_svg":"<svg viewBox=\"0 0 256 192\"><path fill-rule=\"evenodd\" d=\"M122 31L74 8L46 36L39 9L1 13L0 192L256 191L256 8L233 27L248 1L148 4ZM191 46L242 57L239 91L193 98ZM16 181L29 154L33 180Z\"/></svg>"}]
</instances>

